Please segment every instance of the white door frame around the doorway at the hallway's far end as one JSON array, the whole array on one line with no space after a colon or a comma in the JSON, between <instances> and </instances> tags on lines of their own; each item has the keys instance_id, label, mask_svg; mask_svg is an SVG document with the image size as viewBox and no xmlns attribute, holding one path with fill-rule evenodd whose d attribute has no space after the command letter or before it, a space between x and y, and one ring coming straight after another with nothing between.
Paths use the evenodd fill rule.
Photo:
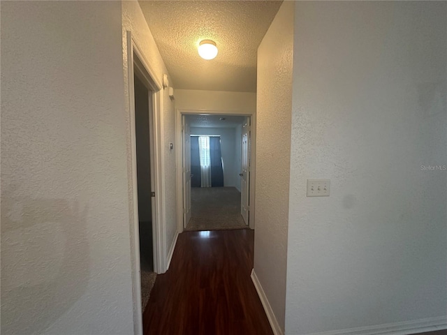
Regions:
<instances>
[{"instance_id":1,"label":"white door frame around the doorway at the hallway's far end","mask_svg":"<svg viewBox=\"0 0 447 335\"><path fill-rule=\"evenodd\" d=\"M177 167L177 230L183 232L183 153L182 153L182 115L237 115L241 117L250 117L251 119L251 153L250 153L250 203L249 203L249 228L255 228L255 211L254 211L254 198L255 198L255 181L256 181L256 112L239 112L231 110L188 110L182 108L176 108L175 110L175 143L176 150L176 167Z\"/></svg>"}]
</instances>

